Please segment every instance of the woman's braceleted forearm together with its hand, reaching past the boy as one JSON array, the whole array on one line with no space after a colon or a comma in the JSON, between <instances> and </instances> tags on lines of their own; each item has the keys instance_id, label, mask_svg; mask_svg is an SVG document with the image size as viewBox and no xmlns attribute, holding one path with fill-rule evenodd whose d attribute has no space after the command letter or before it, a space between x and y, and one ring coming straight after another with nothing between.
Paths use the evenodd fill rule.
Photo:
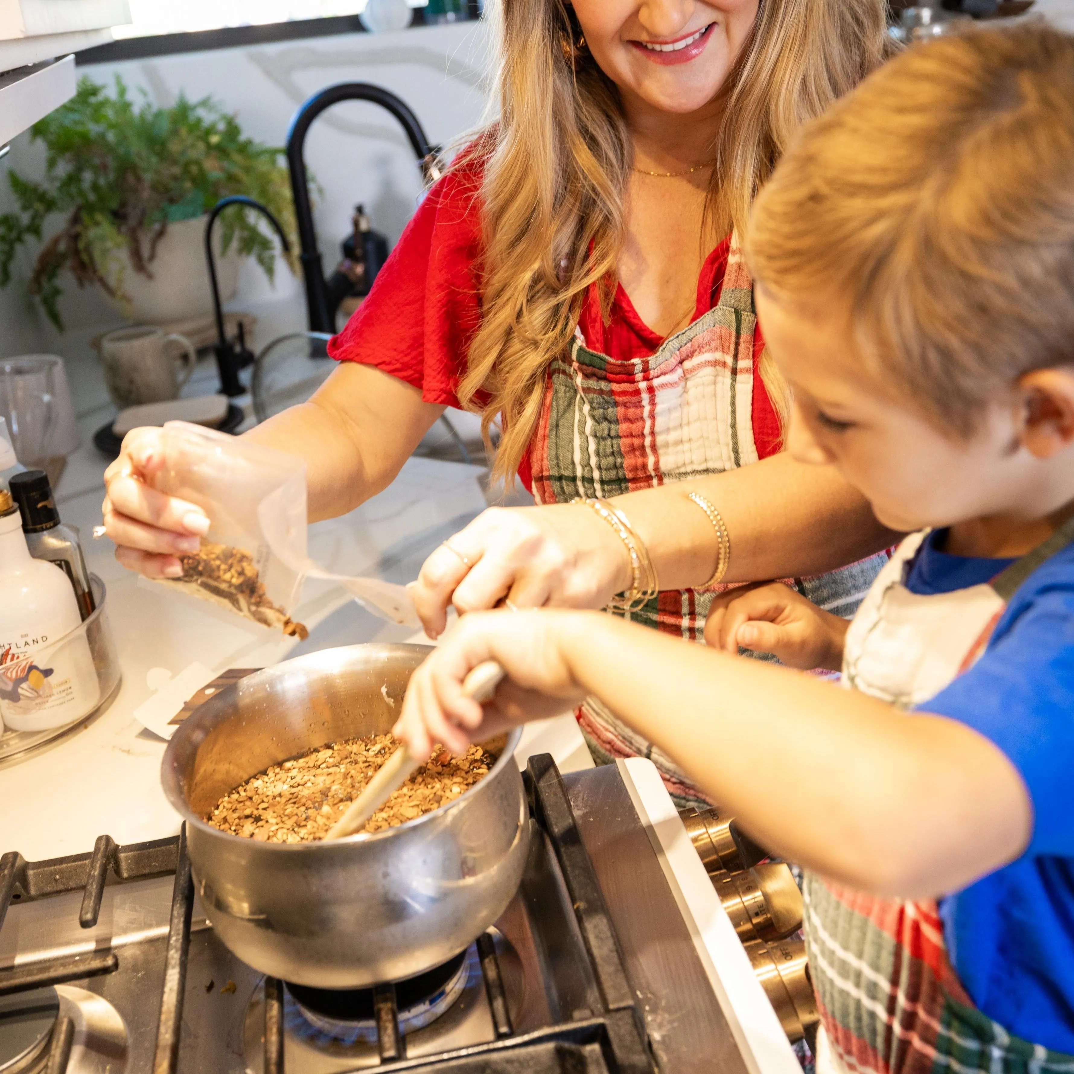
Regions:
<instances>
[{"instance_id":1,"label":"woman's braceleted forearm together with its hand, reaching past the boy","mask_svg":"<svg viewBox=\"0 0 1074 1074\"><path fill-rule=\"evenodd\" d=\"M726 474L626 493L612 499L647 546L662 590L705 585L717 538L709 516L687 498L701 493L730 535L727 582L823 574L896 540L868 503L831 468L777 455ZM411 590L431 637L448 607L603 608L635 582L621 534L584 504L483 512L425 561Z\"/></svg>"}]
</instances>

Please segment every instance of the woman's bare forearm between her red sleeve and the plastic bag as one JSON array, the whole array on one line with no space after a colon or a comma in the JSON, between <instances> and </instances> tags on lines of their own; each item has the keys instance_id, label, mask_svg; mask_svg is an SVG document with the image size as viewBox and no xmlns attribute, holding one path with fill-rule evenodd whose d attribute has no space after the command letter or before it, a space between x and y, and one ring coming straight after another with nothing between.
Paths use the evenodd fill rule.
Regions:
<instances>
[{"instance_id":1,"label":"woman's bare forearm between her red sleeve and the plastic bag","mask_svg":"<svg viewBox=\"0 0 1074 1074\"><path fill-rule=\"evenodd\" d=\"M444 409L396 377L347 362L308 402L245 435L305 460L309 521L317 522L384 489Z\"/></svg>"}]
</instances>

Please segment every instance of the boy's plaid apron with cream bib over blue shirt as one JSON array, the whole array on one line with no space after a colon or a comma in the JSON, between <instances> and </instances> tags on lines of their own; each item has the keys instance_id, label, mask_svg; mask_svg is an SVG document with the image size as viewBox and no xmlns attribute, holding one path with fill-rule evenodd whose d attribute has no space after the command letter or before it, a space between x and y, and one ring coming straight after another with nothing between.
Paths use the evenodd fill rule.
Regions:
<instances>
[{"instance_id":1,"label":"boy's plaid apron with cream bib over blue shirt","mask_svg":"<svg viewBox=\"0 0 1074 1074\"><path fill-rule=\"evenodd\" d=\"M900 708L973 665L1015 590L1074 539L1074 520L990 583L929 596L904 584L925 536L899 546L846 635L843 684ZM803 895L817 1074L1074 1074L1074 1056L1012 1036L974 1007L934 900L881 899L809 872Z\"/></svg>"}]
</instances>

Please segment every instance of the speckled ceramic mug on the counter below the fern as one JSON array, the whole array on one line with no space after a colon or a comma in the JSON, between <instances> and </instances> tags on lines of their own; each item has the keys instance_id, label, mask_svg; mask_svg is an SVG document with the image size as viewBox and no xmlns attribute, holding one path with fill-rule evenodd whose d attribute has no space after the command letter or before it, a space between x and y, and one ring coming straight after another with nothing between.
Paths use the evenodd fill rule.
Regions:
<instances>
[{"instance_id":1,"label":"speckled ceramic mug on the counter below the fern","mask_svg":"<svg viewBox=\"0 0 1074 1074\"><path fill-rule=\"evenodd\" d=\"M173 342L183 348L176 353ZM124 409L140 403L178 398L198 361L194 345L177 332L151 324L110 332L101 340L101 362L108 394Z\"/></svg>"}]
</instances>

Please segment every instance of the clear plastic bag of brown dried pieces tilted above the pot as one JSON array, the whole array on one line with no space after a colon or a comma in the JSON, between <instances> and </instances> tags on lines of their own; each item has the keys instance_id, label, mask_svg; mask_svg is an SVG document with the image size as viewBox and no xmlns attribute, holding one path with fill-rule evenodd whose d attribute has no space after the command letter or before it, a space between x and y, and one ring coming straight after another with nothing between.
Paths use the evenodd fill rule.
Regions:
<instances>
[{"instance_id":1,"label":"clear plastic bag of brown dried pieces tilted above the pot","mask_svg":"<svg viewBox=\"0 0 1074 1074\"><path fill-rule=\"evenodd\" d=\"M162 583L305 637L290 616L306 562L306 464L185 421L164 424L162 447L154 488L197 504L209 520L199 552L180 556L183 577Z\"/></svg>"}]
</instances>

